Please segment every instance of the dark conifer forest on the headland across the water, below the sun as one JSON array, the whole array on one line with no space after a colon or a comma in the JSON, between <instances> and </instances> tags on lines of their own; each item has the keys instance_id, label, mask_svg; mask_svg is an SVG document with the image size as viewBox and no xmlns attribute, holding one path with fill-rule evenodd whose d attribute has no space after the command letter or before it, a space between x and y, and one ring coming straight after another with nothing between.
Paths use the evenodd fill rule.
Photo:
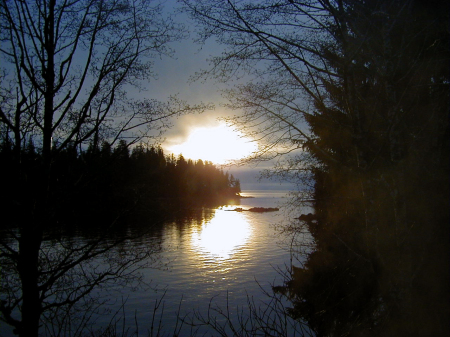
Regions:
<instances>
[{"instance_id":1,"label":"dark conifer forest on the headland across the water, below the sun","mask_svg":"<svg viewBox=\"0 0 450 337\"><path fill-rule=\"evenodd\" d=\"M2 187L2 204L20 213L24 207L36 207L31 202L43 165L32 141L18 154L20 169L16 155L8 143L2 143L2 174L10 178ZM143 144L130 151L125 141L115 147L104 141L101 147L91 145L84 151L65 149L54 155L51 170L51 189L58 196L51 223L59 227L167 218L180 209L225 204L241 192L239 180L211 162L175 158L160 147ZM4 228L18 225L14 218L3 223Z\"/></svg>"}]
</instances>

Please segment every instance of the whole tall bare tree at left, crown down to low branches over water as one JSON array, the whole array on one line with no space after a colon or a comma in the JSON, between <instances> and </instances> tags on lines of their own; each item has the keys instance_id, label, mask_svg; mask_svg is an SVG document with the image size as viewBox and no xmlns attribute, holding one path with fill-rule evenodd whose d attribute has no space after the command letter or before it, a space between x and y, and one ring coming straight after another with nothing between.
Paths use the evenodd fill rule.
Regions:
<instances>
[{"instance_id":1,"label":"whole tall bare tree at left, crown down to low branches over water","mask_svg":"<svg viewBox=\"0 0 450 337\"><path fill-rule=\"evenodd\" d=\"M20 336L37 336L41 325L59 335L72 324L75 334L75 306L95 309L93 289L137 281L134 272L153 253L120 250L127 236L80 243L46 230L71 193L57 187L52 168L61 152L158 137L170 117L203 110L132 95L146 89L152 60L169 56L168 44L183 36L161 10L147 0L1 1L0 130L14 152L10 176L2 176L14 187L5 191L12 206L2 205L2 226L11 230L0 243L0 312ZM32 170L22 158L27 144L42 159ZM29 184L31 195L23 195Z\"/></svg>"}]
</instances>

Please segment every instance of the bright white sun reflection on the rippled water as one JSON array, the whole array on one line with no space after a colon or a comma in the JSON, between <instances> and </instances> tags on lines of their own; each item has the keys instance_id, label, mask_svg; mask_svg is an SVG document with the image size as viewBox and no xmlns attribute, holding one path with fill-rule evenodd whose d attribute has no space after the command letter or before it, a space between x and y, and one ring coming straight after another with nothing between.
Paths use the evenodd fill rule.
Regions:
<instances>
[{"instance_id":1,"label":"bright white sun reflection on the rippled water","mask_svg":"<svg viewBox=\"0 0 450 337\"><path fill-rule=\"evenodd\" d=\"M206 260L221 262L244 246L251 234L252 227L244 214L217 210L210 222L192 233L192 245Z\"/></svg>"}]
</instances>

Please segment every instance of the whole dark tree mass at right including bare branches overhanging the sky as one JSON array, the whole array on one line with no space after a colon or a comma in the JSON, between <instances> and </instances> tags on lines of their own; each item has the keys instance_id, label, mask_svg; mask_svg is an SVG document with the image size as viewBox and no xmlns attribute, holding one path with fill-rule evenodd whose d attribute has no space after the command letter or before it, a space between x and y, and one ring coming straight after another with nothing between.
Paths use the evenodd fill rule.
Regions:
<instances>
[{"instance_id":1,"label":"whole dark tree mass at right including bare branches overhanging the sky","mask_svg":"<svg viewBox=\"0 0 450 337\"><path fill-rule=\"evenodd\" d=\"M227 47L200 75L250 79L227 93L256 160L313 178L315 215L291 229L316 247L277 288L287 314L317 336L448 334L448 6L183 2Z\"/></svg>"}]
</instances>

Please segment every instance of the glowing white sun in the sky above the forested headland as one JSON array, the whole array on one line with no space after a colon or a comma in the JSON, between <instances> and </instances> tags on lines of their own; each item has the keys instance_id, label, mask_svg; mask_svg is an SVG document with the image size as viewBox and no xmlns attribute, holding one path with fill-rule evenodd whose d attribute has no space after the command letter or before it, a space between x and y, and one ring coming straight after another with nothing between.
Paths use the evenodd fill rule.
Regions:
<instances>
[{"instance_id":1,"label":"glowing white sun in the sky above the forested headland","mask_svg":"<svg viewBox=\"0 0 450 337\"><path fill-rule=\"evenodd\" d=\"M256 149L254 141L226 124L194 128L183 143L168 147L175 155L182 154L185 158L207 160L214 164L242 159Z\"/></svg>"}]
</instances>

